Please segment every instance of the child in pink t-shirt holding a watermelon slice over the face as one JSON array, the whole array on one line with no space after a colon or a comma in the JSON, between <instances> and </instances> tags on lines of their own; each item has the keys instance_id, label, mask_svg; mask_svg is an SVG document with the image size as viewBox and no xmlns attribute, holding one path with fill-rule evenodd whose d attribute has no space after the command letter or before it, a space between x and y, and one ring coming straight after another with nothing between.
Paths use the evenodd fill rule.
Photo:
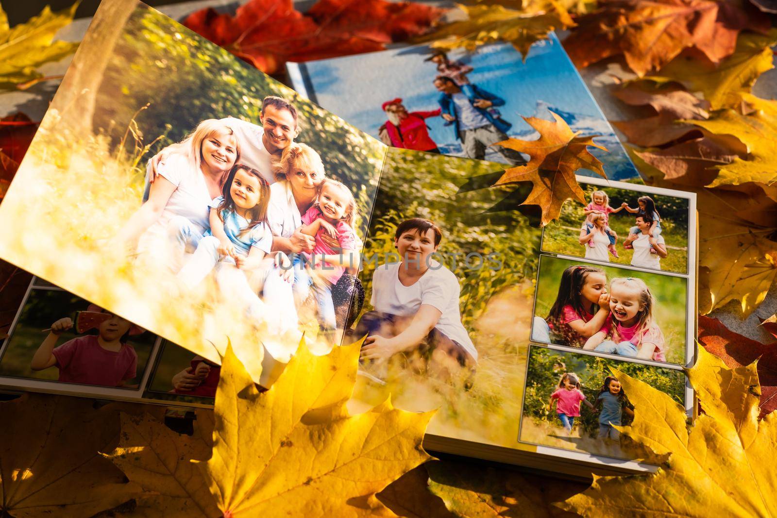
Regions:
<instances>
[{"instance_id":1,"label":"child in pink t-shirt holding a watermelon slice over the face","mask_svg":"<svg viewBox=\"0 0 777 518\"><path fill-rule=\"evenodd\" d=\"M75 327L78 332L96 329L96 334L77 336L55 347L59 336L73 326L73 320L67 317L51 325L48 336L33 356L30 364L33 370L57 367L57 381L104 387L124 386L136 376L138 354L127 339L144 329L89 304L87 311L78 312Z\"/></svg>"}]
</instances>

